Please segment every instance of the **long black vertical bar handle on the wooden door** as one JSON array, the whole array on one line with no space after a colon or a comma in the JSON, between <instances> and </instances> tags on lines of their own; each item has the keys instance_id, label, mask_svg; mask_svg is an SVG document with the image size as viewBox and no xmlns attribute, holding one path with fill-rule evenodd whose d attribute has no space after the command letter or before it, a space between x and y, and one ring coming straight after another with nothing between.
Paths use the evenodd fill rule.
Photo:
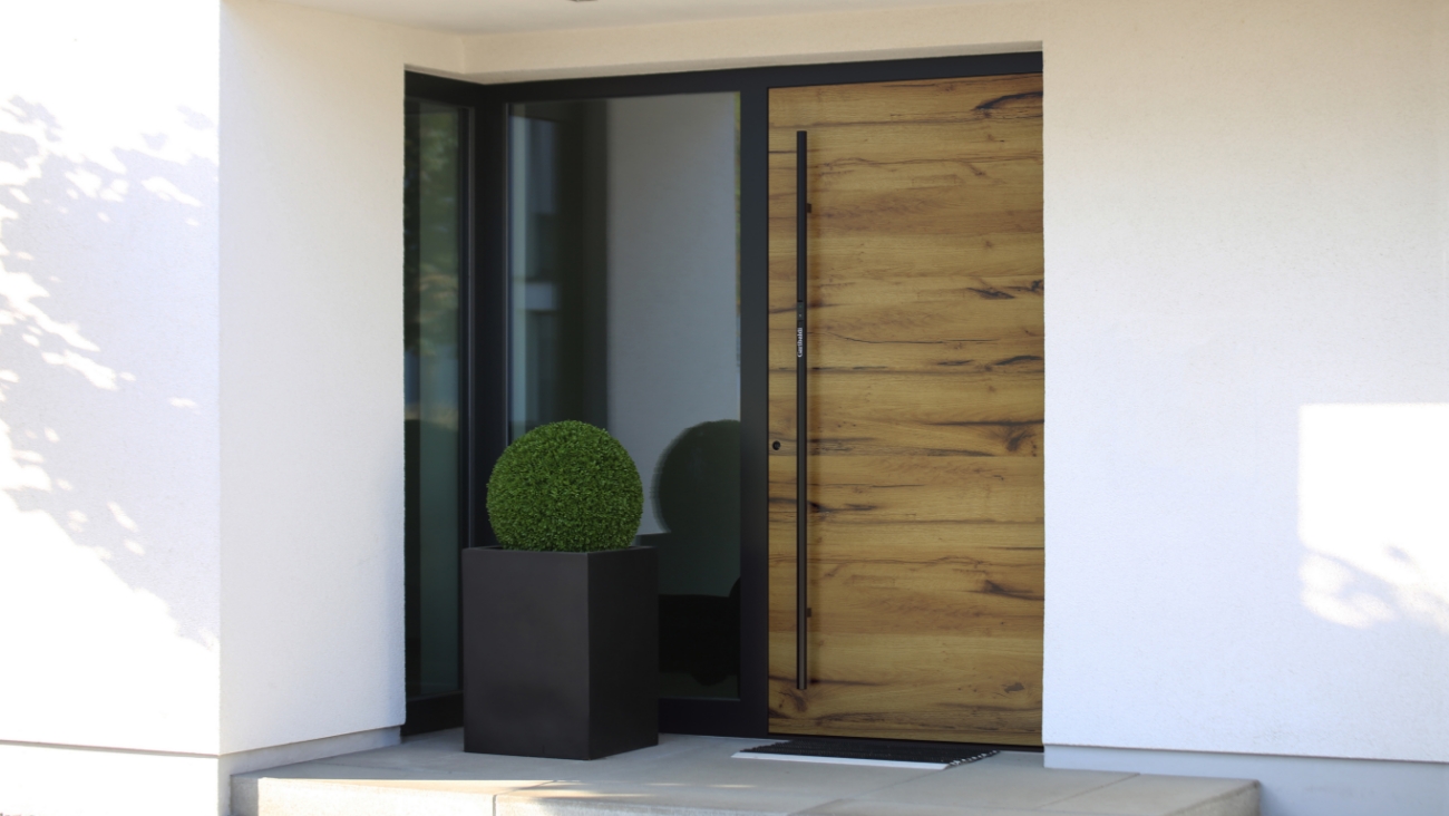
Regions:
<instances>
[{"instance_id":1,"label":"long black vertical bar handle on the wooden door","mask_svg":"<svg viewBox=\"0 0 1449 816\"><path fill-rule=\"evenodd\" d=\"M810 606L806 596L810 577L807 523L810 520L809 480L806 465L810 451L810 429L806 391L806 132L796 130L796 688L810 684L807 662Z\"/></svg>"}]
</instances>

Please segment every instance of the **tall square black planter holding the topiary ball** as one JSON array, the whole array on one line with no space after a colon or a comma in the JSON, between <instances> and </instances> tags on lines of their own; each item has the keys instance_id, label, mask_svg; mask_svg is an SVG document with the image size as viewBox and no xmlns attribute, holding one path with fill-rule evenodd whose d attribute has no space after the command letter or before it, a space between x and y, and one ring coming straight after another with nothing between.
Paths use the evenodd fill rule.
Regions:
<instances>
[{"instance_id":1,"label":"tall square black planter holding the topiary ball","mask_svg":"<svg viewBox=\"0 0 1449 816\"><path fill-rule=\"evenodd\" d=\"M462 551L464 751L596 759L659 742L658 562Z\"/></svg>"}]
</instances>

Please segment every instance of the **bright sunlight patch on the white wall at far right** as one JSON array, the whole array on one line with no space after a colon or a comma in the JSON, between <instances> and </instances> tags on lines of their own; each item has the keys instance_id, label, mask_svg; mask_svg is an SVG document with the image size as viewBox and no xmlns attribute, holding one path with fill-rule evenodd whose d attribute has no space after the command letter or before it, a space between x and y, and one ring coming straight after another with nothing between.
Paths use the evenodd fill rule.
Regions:
<instances>
[{"instance_id":1,"label":"bright sunlight patch on the white wall at far right","mask_svg":"<svg viewBox=\"0 0 1449 816\"><path fill-rule=\"evenodd\" d=\"M1303 406L1298 538L1308 612L1449 633L1449 404Z\"/></svg>"}]
</instances>

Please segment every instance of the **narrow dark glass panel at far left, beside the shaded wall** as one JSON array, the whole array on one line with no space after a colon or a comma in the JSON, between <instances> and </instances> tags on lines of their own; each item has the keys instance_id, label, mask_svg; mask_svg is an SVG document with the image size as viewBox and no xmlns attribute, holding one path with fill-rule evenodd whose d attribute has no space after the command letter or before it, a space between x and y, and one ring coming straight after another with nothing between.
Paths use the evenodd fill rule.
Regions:
<instances>
[{"instance_id":1,"label":"narrow dark glass panel at far left, beside the shaded wall","mask_svg":"<svg viewBox=\"0 0 1449 816\"><path fill-rule=\"evenodd\" d=\"M458 107L409 100L404 175L407 697L459 690Z\"/></svg>"}]
</instances>

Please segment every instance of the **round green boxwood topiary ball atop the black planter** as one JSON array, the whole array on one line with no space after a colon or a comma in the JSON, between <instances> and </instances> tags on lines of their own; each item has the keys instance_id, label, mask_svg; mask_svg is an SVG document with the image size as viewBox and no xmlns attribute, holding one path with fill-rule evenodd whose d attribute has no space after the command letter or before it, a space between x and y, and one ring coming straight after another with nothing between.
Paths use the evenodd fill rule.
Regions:
<instances>
[{"instance_id":1,"label":"round green boxwood topiary ball atop the black planter","mask_svg":"<svg viewBox=\"0 0 1449 816\"><path fill-rule=\"evenodd\" d=\"M642 515L643 483L629 451L584 422L519 436L488 478L488 522L507 549L619 549Z\"/></svg>"}]
</instances>

